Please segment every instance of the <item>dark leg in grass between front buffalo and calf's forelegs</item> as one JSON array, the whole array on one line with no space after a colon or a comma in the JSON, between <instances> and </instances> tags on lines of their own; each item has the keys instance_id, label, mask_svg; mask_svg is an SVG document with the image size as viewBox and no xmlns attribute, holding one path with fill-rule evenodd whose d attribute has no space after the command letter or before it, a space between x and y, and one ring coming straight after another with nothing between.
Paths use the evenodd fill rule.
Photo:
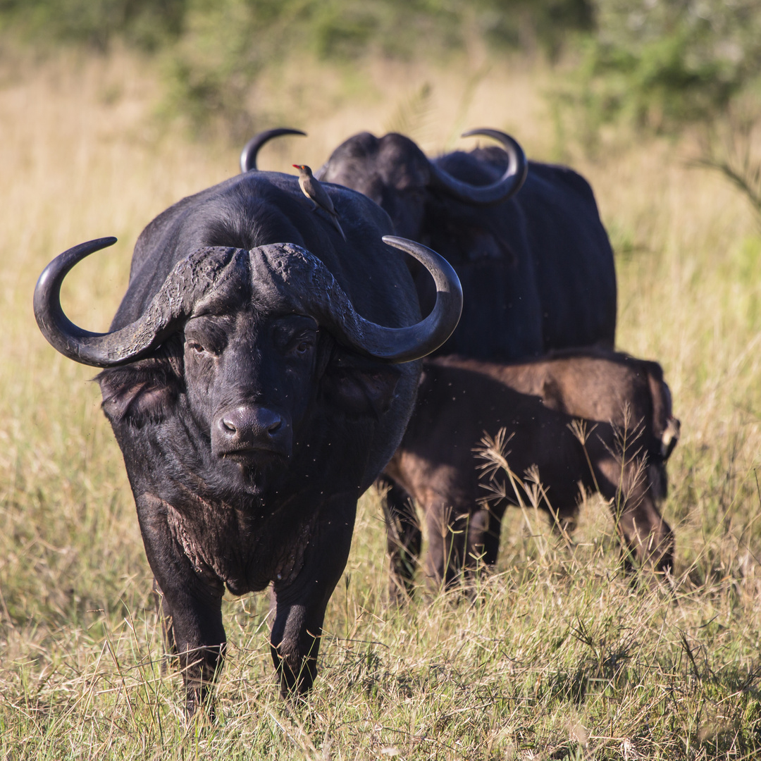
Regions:
<instances>
[{"instance_id":1,"label":"dark leg in grass between front buffalo and calf's forelegs","mask_svg":"<svg viewBox=\"0 0 761 761\"><path fill-rule=\"evenodd\" d=\"M390 561L388 597L392 603L401 603L412 596L422 531L412 498L401 486L387 476L380 476L375 487L380 493L386 520L386 546Z\"/></svg>"}]
</instances>

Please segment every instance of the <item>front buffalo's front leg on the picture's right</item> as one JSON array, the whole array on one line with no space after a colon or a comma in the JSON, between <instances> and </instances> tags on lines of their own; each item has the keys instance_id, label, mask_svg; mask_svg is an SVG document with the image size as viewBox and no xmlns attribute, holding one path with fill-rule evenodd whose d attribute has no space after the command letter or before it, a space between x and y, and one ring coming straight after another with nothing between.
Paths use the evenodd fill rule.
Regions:
<instances>
[{"instance_id":1,"label":"front buffalo's front leg on the picture's right","mask_svg":"<svg viewBox=\"0 0 761 761\"><path fill-rule=\"evenodd\" d=\"M334 497L323 508L293 581L275 581L275 620L270 632L272 661L280 692L305 693L317 676L320 635L330 595L349 558L357 497Z\"/></svg>"}]
</instances>

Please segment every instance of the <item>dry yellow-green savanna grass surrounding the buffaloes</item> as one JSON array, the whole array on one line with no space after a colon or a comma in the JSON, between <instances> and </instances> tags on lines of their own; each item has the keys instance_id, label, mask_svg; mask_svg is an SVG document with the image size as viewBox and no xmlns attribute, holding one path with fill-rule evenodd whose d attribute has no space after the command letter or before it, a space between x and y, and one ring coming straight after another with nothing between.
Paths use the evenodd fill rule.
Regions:
<instances>
[{"instance_id":1,"label":"dry yellow-green savanna grass surrounding the buffaloes","mask_svg":"<svg viewBox=\"0 0 761 761\"><path fill-rule=\"evenodd\" d=\"M18 64L18 62L17 62ZM761 753L761 237L689 138L566 144L517 63L303 67L265 81L273 125L309 132L263 168L319 166L359 129L429 151L467 127L513 132L533 158L593 183L616 248L618 345L661 361L682 421L664 505L674 593L620 572L606 505L584 506L569 551L513 511L475 595L387 607L384 524L362 498L305 705L277 695L266 595L224 602L218 720L186 724L161 638L118 447L94 371L46 344L37 275L114 234L67 281L76 323L104 330L135 238L168 205L237 172L237 150L156 115L152 72L124 53L0 72L0 754L5 759L740 759ZM428 83L429 87L424 85ZM270 125L266 125L270 126Z\"/></svg>"}]
</instances>

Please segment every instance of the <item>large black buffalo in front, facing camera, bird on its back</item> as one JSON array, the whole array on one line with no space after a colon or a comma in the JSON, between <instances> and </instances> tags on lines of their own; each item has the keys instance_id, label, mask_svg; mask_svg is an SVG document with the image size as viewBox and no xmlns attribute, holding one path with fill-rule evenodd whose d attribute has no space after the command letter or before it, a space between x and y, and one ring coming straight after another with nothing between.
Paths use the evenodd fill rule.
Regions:
<instances>
[{"instance_id":1,"label":"large black buffalo in front, facing camera, bird on its back","mask_svg":"<svg viewBox=\"0 0 761 761\"><path fill-rule=\"evenodd\" d=\"M139 237L110 333L69 322L59 292L78 261L115 239L62 253L35 291L46 339L106 368L103 410L189 712L221 666L225 586L244 594L272 583L282 692L310 687L357 499L403 435L416 360L457 324L447 263L385 238L434 275L437 306L421 321L403 256L381 241L385 212L326 189L346 241L282 174L241 175L167 209Z\"/></svg>"}]
</instances>

